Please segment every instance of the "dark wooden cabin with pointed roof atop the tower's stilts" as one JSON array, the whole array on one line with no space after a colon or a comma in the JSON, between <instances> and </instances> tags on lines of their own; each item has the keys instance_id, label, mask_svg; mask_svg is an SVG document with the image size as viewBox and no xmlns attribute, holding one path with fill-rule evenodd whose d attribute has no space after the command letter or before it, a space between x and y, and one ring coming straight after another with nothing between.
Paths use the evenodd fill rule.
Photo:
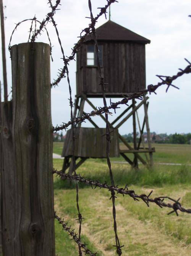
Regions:
<instances>
[{"instance_id":1,"label":"dark wooden cabin with pointed roof atop the tower's stilts","mask_svg":"<svg viewBox=\"0 0 191 256\"><path fill-rule=\"evenodd\" d=\"M146 86L145 45L150 40L109 20L96 29L106 95L121 97ZM102 97L94 41L87 36L77 53L77 97Z\"/></svg>"}]
</instances>

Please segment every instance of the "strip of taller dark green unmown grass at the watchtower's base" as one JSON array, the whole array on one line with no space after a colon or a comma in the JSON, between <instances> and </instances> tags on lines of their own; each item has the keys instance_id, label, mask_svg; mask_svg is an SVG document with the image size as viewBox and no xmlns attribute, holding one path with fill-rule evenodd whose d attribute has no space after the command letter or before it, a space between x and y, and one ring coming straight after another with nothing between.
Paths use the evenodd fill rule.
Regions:
<instances>
[{"instance_id":1,"label":"strip of taller dark green unmown grass at the watchtower's base","mask_svg":"<svg viewBox=\"0 0 191 256\"><path fill-rule=\"evenodd\" d=\"M186 165L154 166L149 170L145 167L141 167L136 170L127 167L127 165L113 164L112 172L115 185L119 185L119 187L124 187L126 184L162 187L165 184L176 185L191 183L191 167ZM79 168L77 173L80 173L81 176L87 179L98 180L101 183L107 182L107 184L110 185L110 176L106 164L89 161L83 168ZM63 181L59 177L55 178L55 189L70 189L74 187L74 181ZM79 183L79 187L83 188L87 187L87 185Z\"/></svg>"}]
</instances>

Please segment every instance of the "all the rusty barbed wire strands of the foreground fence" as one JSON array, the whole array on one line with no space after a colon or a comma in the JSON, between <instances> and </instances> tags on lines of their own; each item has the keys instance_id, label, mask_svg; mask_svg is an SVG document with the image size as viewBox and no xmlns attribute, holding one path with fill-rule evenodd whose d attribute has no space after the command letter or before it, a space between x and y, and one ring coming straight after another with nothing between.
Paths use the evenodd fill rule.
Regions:
<instances>
[{"instance_id":1,"label":"all the rusty barbed wire strands of the foreground fence","mask_svg":"<svg viewBox=\"0 0 191 256\"><path fill-rule=\"evenodd\" d=\"M142 100L143 99L142 97L146 93L149 93L149 94L155 93L156 94L157 89L162 85L167 86L166 91L168 91L170 86L172 86L176 89L179 89L178 87L176 87L172 83L173 83L173 81L175 81L180 76L191 73L191 63L188 61L188 59L185 59L185 61L188 63L188 65L184 69L180 68L179 69L180 71L178 71L178 73L175 74L174 76L157 75L157 77L161 80L159 83L157 83L155 85L150 84L150 85L147 86L147 89L138 91L138 92L136 92L134 94L131 94L131 95L125 95L125 96L123 96L123 99L121 101L112 102L111 99L110 99L110 105L107 106L106 96L105 96L105 86L108 86L108 85L105 83L104 76L101 72L101 66L100 66L100 60L99 60L99 49L98 49L98 44L97 44L97 39L96 39L95 25L96 25L96 22L99 19L99 17L101 17L102 15L105 15L105 18L106 18L106 13L107 13L108 7L111 4L113 4L115 2L118 2L118 1L117 0L106 0L106 1L107 1L107 4L104 7L98 7L98 9L100 9L100 12L97 14L97 16L94 17L93 13L92 13L91 0L88 0L90 17L86 17L86 18L88 18L91 22L89 23L89 25L86 28L84 28L81 31L80 36L79 36L79 40L74 45L74 47L72 48L72 53L69 57L65 56L65 54L64 54L62 42L60 40L58 29L57 29L57 24L55 23L55 20L54 20L55 12L57 10L60 10L60 9L58 9L58 6L61 5L60 0L57 0L55 5L52 4L52 0L48 1L48 4L50 5L50 8L51 8L51 12L47 13L46 18L43 19L41 22L39 20L37 20L36 17L34 17L34 18L23 20L23 21L17 23L15 29L13 30L13 33L11 34L10 43L9 43L9 50L11 52L11 39L12 39L12 36L13 36L15 30L17 29L17 27L21 23L23 23L25 21L31 21L31 26L30 26L30 29L29 29L28 42L30 41L31 43L34 43L35 40L37 39L37 36L40 33L42 33L43 30L45 30L46 33L47 33L47 36L48 36L49 43L50 43L50 56L51 56L52 55L52 45L51 45L49 33L47 31L47 28L46 28L47 23L51 22L53 24L53 26L55 28L55 31L56 31L56 34L57 34L58 42L59 42L61 52L62 52L62 59L63 59L63 64L64 65L63 65L62 69L58 69L58 78L54 79L53 83L50 84L50 86L51 86L51 88L54 88L55 86L58 86L58 84L60 83L62 78L67 78L69 95L70 95L70 98L69 98L70 121L63 122L62 125L53 127L52 131L57 132L59 130L66 130L66 129L68 129L69 126L71 126L72 141L73 141L72 163L73 163L74 175L70 175L68 173L63 173L62 170L58 171L58 170L55 170L55 169L53 169L52 172L55 175L57 175L58 177L68 178L69 180L73 180L76 184L76 208L77 208L77 211L78 211L78 219L77 220L79 222L78 234L76 234L75 231L71 229L71 226L68 227L68 223L66 223L64 221L64 219L57 216L56 212L55 212L55 219L58 220L58 222L62 225L63 230L68 232L68 235L70 235L71 238L77 243L79 256L82 256L83 252L85 254L88 254L88 255L91 255L91 256L96 255L96 253L93 253L92 251L90 251L87 248L86 243L81 243L81 225L82 225L83 216L81 215L80 208L79 208L79 195L78 195L78 190L79 190L78 183L79 182L91 186L92 189L95 189L95 188L99 187L99 188L105 188L110 192L110 200L112 200L112 206L113 206L113 210L112 210L113 230L114 230L114 233L115 233L115 245L114 246L116 247L116 253L118 254L118 256L120 256L122 254L121 248L124 245L121 246L119 238L118 238L118 233L117 233L116 209L115 209L115 200L117 198L115 196L116 193L117 194L122 194L123 197L125 195L129 195L129 197L132 197L134 201L142 200L142 201L144 201L144 203L146 203L146 205L148 207L149 207L149 203L155 203L160 208L163 208L163 207L170 208L171 211L168 213L168 215L172 214L172 213L176 213L176 215L178 216L178 211L185 212L185 213L191 213L191 209L186 209L183 206L181 206L181 204L179 202L180 198L178 198L178 200L175 200L175 199L167 197L167 196L163 196L163 197L159 196L159 197L151 198L152 191L148 195L146 195L146 194L138 195L138 194L136 194L136 192L134 190L129 190L128 185L126 185L124 188L119 188L118 185L115 185L115 181L113 180L113 173L112 173L110 157L109 157L110 141L111 141L110 133L112 132L110 130L110 123L108 122L108 115L112 114L112 112L110 112L110 111L113 110L114 112L116 112L116 109L120 108L120 106L123 105L123 104L128 106L128 102L132 99ZM37 23L40 24L39 29L37 29ZM99 71L99 79L100 79L100 83L97 86L101 86L101 88L102 88L102 97L103 97L103 105L104 106L98 107L95 110L91 111L90 113L85 113L82 116L75 117L75 116L73 116L73 106L74 106L74 104L73 104L73 100L72 100L72 96L71 96L72 91L71 91L71 85L70 85L68 64L69 64L70 61L74 60L74 57L75 57L76 53L80 50L81 45L83 43L85 43L86 41L88 41L88 40L86 40L87 35L91 36L91 39L94 40L94 44L95 44L95 50L96 50L96 55L97 55L97 68L98 68L98 71ZM52 58L52 56L51 56L51 58ZM76 170L75 170L76 168L75 168L74 151L75 151L76 136L74 134L74 127L77 124L79 124L81 122L84 122L86 119L91 119L92 117L99 116L101 114L105 114L105 119L106 119L106 134L105 134L105 137L106 137L106 140L107 140L106 155L107 155L108 170L109 170L109 174L110 174L110 185L108 185L106 182L100 183L98 180L91 180L91 179L88 179L86 177L82 177L79 174L77 174ZM167 200L167 199L170 200L171 203L165 202L165 200Z\"/></svg>"}]
</instances>

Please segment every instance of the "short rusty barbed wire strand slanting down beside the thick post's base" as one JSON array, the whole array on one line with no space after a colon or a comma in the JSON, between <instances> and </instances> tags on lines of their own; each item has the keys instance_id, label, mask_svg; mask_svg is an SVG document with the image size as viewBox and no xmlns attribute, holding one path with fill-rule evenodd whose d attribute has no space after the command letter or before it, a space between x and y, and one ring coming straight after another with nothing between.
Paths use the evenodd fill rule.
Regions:
<instances>
[{"instance_id":1,"label":"short rusty barbed wire strand slanting down beside the thick post's base","mask_svg":"<svg viewBox=\"0 0 191 256\"><path fill-rule=\"evenodd\" d=\"M78 234L76 234L75 232L74 232L74 230L71 230L71 226L70 227L67 227L67 225L68 225L68 223L67 222L65 222L64 221L64 219L62 220L61 218L59 218L57 215L56 215L56 212L54 213L54 217L55 217L55 219L57 219L58 220L58 222L62 225L62 228L63 228L63 230L65 230L66 232L68 232L69 233L69 236L71 236L72 237L72 239L71 240L74 240L77 244L78 244L78 246L80 247L80 248L83 248L83 252L85 253L85 254L89 254L90 256L95 256L97 253L92 253L92 251L90 251L89 249L87 249L86 248L86 243L81 243L80 242L80 240L79 240L79 238L78 238Z\"/></svg>"}]
</instances>

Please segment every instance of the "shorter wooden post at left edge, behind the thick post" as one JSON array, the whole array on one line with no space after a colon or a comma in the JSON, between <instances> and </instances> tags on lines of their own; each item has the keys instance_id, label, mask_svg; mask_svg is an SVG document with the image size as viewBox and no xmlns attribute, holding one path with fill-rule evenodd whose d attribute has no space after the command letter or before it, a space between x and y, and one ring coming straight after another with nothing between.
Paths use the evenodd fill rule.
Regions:
<instances>
[{"instance_id":1,"label":"shorter wooden post at left edge, behind the thick post","mask_svg":"<svg viewBox=\"0 0 191 256\"><path fill-rule=\"evenodd\" d=\"M13 154L13 108L12 102L1 103L2 110L2 156L1 156L1 220L2 220L2 249L3 255L14 254L15 236L15 160Z\"/></svg>"}]
</instances>

